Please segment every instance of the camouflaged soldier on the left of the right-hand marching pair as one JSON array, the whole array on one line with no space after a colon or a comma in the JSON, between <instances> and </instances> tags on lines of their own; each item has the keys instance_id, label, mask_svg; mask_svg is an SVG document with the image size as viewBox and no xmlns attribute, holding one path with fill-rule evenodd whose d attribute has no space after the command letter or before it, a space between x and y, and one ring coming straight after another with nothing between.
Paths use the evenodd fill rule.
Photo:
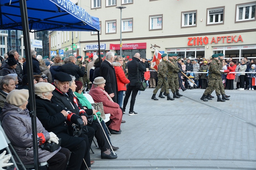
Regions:
<instances>
[{"instance_id":1,"label":"camouflaged soldier on the left of the right-hand marching pair","mask_svg":"<svg viewBox=\"0 0 256 170\"><path fill-rule=\"evenodd\" d=\"M215 90L217 95L217 102L225 102L225 100L222 100L221 98L221 92L219 89L219 79L221 78L221 72L219 71L219 60L218 60L218 54L212 55L212 62L209 66L209 75L208 75L208 87L205 89L203 96L200 98L202 101L206 102L208 101L205 97L212 93L213 90ZM218 63L219 62L219 63Z\"/></svg>"}]
</instances>

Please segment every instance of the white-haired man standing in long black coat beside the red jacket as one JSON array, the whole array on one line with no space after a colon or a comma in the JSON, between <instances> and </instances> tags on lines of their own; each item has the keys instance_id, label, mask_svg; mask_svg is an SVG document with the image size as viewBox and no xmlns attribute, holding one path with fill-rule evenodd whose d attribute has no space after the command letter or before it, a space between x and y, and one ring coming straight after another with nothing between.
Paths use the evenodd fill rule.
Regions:
<instances>
[{"instance_id":1,"label":"white-haired man standing in long black coat beside the red jacket","mask_svg":"<svg viewBox=\"0 0 256 170\"><path fill-rule=\"evenodd\" d=\"M101 76L106 80L105 91L112 98L113 102L118 103L118 90L116 81L116 72L114 67L111 65L115 60L115 53L107 52L106 60L101 64Z\"/></svg>"}]
</instances>

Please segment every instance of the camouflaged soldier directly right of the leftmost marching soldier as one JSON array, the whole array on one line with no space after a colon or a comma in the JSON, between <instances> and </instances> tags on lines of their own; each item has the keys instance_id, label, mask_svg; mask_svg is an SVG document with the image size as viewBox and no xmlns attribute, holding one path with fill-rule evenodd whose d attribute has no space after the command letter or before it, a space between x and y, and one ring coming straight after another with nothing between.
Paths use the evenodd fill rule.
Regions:
<instances>
[{"instance_id":1,"label":"camouflaged soldier directly right of the leftmost marching soldier","mask_svg":"<svg viewBox=\"0 0 256 170\"><path fill-rule=\"evenodd\" d=\"M180 96L176 95L176 93L175 93L176 87L175 87L175 82L174 82L174 79L177 78L177 72L179 72L180 69L177 66L175 66L175 64L173 64L173 62L174 62L173 54L169 53L168 59L169 59L169 62L167 63L167 67L168 67L167 78L168 78L168 83L169 83L169 89L171 89L171 91L172 91L173 98L180 98ZM161 89L161 90L163 90L163 89ZM166 95L166 93L164 92L163 95Z\"/></svg>"}]
</instances>

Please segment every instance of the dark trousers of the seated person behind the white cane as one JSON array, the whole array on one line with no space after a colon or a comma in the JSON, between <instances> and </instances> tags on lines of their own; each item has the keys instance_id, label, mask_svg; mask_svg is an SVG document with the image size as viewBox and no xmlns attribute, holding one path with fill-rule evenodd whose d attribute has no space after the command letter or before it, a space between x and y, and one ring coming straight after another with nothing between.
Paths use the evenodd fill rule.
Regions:
<instances>
[{"instance_id":1,"label":"dark trousers of the seated person behind the white cane","mask_svg":"<svg viewBox=\"0 0 256 170\"><path fill-rule=\"evenodd\" d=\"M108 140L105 137L103 129L101 128L98 121L93 121L91 124L87 124L91 128L95 130L95 138L97 139L97 143L101 152L104 152L110 148Z\"/></svg>"}]
</instances>

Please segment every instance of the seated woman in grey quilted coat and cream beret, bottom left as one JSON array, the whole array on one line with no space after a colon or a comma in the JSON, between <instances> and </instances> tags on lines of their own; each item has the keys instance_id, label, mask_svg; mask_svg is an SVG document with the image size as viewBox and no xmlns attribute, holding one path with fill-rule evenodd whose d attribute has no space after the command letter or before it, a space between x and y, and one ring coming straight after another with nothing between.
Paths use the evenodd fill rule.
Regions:
<instances>
[{"instance_id":1,"label":"seated woman in grey quilted coat and cream beret, bottom left","mask_svg":"<svg viewBox=\"0 0 256 170\"><path fill-rule=\"evenodd\" d=\"M33 164L33 139L32 126L29 111L26 108L28 104L28 90L12 90L6 97L0 119L7 137L13 144L14 149L22 162ZM58 137L53 132L44 129L42 123L37 119L38 143L44 142L58 143ZM38 148L39 162L49 164L48 170L66 169L70 151L66 148L58 148L54 152L49 152Z\"/></svg>"}]
</instances>

